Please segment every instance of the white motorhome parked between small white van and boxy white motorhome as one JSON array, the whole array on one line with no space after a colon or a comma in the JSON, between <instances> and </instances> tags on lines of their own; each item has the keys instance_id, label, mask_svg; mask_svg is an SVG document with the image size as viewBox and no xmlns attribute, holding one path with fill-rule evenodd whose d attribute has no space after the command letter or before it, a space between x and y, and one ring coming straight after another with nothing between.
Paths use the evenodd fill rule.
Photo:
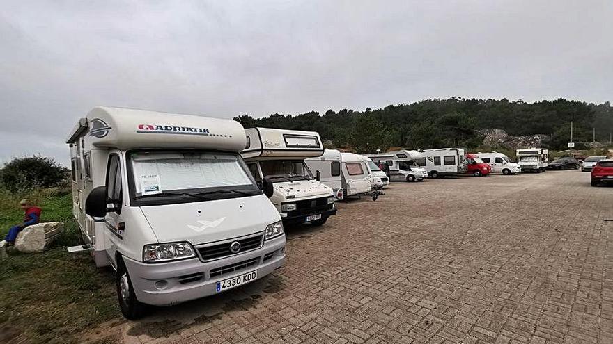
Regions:
<instances>
[{"instance_id":1,"label":"white motorhome parked between small white van and boxy white motorhome","mask_svg":"<svg viewBox=\"0 0 613 344\"><path fill-rule=\"evenodd\" d=\"M428 177L426 169L419 167L408 151L366 154L375 163L387 166L390 181L422 181Z\"/></svg>"}]
</instances>

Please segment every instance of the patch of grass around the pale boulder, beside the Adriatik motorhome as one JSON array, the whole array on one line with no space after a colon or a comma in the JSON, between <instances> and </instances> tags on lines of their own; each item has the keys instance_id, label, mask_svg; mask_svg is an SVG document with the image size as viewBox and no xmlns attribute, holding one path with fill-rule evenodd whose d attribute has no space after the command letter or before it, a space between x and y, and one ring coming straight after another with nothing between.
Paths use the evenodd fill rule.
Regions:
<instances>
[{"instance_id":1,"label":"patch of grass around the pale boulder, beside the Adriatik motorhome","mask_svg":"<svg viewBox=\"0 0 613 344\"><path fill-rule=\"evenodd\" d=\"M17 206L22 195L0 193L0 232L22 222ZM116 306L114 275L95 267L87 253L68 254L78 245L79 233L72 218L72 195L37 191L41 220L65 222L63 234L40 254L11 252L0 261L0 329L27 343L79 343L79 332L91 325L121 316ZM17 337L15 337L17 336ZM2 336L0 336L2 337Z\"/></svg>"}]
</instances>

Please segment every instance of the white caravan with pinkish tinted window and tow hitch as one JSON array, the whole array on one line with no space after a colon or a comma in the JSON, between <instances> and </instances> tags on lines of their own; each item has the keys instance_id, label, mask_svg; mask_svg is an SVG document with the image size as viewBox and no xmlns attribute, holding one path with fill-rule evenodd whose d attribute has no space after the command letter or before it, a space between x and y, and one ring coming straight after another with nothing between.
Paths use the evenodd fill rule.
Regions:
<instances>
[{"instance_id":1,"label":"white caravan with pinkish tinted window and tow hitch","mask_svg":"<svg viewBox=\"0 0 613 344\"><path fill-rule=\"evenodd\" d=\"M362 156L341 153L341 172L346 197L370 193L373 190L371 175Z\"/></svg>"}]
</instances>

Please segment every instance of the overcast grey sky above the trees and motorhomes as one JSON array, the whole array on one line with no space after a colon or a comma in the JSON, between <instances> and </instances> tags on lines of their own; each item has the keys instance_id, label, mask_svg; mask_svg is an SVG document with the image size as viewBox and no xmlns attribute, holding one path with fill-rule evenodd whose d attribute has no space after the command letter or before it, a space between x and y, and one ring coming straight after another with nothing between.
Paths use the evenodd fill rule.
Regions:
<instances>
[{"instance_id":1,"label":"overcast grey sky above the trees and motorhomes","mask_svg":"<svg viewBox=\"0 0 613 344\"><path fill-rule=\"evenodd\" d=\"M231 118L613 95L613 1L3 1L0 161L93 106Z\"/></svg>"}]
</instances>

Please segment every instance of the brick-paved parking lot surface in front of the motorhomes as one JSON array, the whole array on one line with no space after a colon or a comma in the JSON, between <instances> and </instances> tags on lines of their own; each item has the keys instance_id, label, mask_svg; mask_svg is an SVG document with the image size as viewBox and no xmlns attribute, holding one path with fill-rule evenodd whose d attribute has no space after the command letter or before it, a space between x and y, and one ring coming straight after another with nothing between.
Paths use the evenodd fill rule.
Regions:
<instances>
[{"instance_id":1,"label":"brick-paved parking lot surface in front of the motorhomes","mask_svg":"<svg viewBox=\"0 0 613 344\"><path fill-rule=\"evenodd\" d=\"M118 325L126 343L613 343L613 188L577 171L393 183L286 265Z\"/></svg>"}]
</instances>

